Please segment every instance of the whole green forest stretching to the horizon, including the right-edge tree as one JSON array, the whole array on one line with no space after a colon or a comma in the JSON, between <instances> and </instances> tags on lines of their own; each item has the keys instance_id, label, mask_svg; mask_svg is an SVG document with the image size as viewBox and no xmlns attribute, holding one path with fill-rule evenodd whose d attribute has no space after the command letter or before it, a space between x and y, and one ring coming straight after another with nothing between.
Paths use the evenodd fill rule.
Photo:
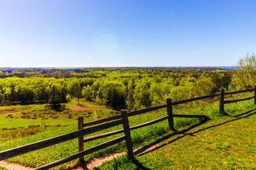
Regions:
<instances>
[{"instance_id":1,"label":"whole green forest stretching to the horizon, including the right-edge tree","mask_svg":"<svg viewBox=\"0 0 256 170\"><path fill-rule=\"evenodd\" d=\"M255 69L240 60L239 69L123 67L85 69L2 68L0 103L50 103L60 105L84 98L100 105L129 111L186 98L215 94L219 89L250 89Z\"/></svg>"}]
</instances>

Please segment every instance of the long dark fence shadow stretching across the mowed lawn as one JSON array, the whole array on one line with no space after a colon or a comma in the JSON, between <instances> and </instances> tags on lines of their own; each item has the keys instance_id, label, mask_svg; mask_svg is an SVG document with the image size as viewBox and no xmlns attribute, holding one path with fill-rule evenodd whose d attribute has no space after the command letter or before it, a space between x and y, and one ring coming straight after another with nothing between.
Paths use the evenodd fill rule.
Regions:
<instances>
[{"instance_id":1,"label":"long dark fence shadow stretching across the mowed lawn","mask_svg":"<svg viewBox=\"0 0 256 170\"><path fill-rule=\"evenodd\" d=\"M212 125L212 126L209 126L207 128L203 128L201 130L197 130L195 132L190 132L190 133L186 133L188 132L189 130L193 129L193 128L196 128L198 127L199 125L203 125L204 123L206 123L208 120L203 120L201 121L200 123L197 123L196 125L192 125L191 127L185 129L185 130L181 130L181 131L178 131L178 130L174 130L174 132L172 134L169 134L169 135L166 135L164 137L162 137L161 139L159 140L156 140L155 142L152 142L151 144L149 145L146 145L145 147L142 147L141 149L138 149L136 152L134 152L134 155L138 155L138 156L142 156L144 154L147 154L149 152L152 152L156 149L159 149L161 147L164 147L166 145L169 145L170 143L172 142L175 142L176 140L179 140L183 137L186 137L187 135L191 135L191 136L194 136L194 134L198 133L198 132L202 132L203 130L208 130L210 128L215 128L215 127L218 127L220 125L225 125L226 123L230 123L230 122L233 122L233 121L236 121L236 120L240 120L242 118L247 118L247 117L250 117L251 115L255 115L256 112L253 112L253 111L256 111L256 109L253 109L251 111L247 111L245 113L242 113L242 114L239 114L239 115L235 115L235 116L231 116L231 115L228 115L228 113L226 113L226 115L228 117L231 117L231 118L235 118L233 120L228 120L228 121L225 121L223 123L220 123L218 125ZM252 113L253 112L253 113ZM154 147L155 145L159 144L160 142L163 142L164 140L168 140L170 137L174 136L174 135L180 135L180 134L183 134L181 137L176 137L176 139L174 140L170 140L169 142L166 142L165 144L163 145L159 145L159 146L156 146ZM151 148L151 149L150 149ZM146 151L147 149L149 149L149 151Z\"/></svg>"}]
</instances>

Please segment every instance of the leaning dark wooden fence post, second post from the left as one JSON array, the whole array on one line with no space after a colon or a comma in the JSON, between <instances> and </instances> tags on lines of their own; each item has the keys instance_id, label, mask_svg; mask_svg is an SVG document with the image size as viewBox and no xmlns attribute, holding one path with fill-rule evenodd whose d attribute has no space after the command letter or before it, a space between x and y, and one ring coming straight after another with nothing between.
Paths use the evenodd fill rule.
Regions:
<instances>
[{"instance_id":1,"label":"leaning dark wooden fence post, second post from the left","mask_svg":"<svg viewBox=\"0 0 256 170\"><path fill-rule=\"evenodd\" d=\"M124 135L126 136L125 142L127 145L127 154L129 159L134 158L133 149L132 149L132 137L131 132L129 130L129 121L127 118L127 111L122 111L122 118L124 120L123 127L124 127Z\"/></svg>"}]
</instances>

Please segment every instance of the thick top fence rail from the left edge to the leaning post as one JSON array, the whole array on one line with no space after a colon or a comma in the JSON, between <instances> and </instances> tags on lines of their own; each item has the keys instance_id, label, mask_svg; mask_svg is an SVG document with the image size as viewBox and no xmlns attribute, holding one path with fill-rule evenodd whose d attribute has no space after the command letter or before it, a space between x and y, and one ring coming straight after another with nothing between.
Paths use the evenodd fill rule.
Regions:
<instances>
[{"instance_id":1,"label":"thick top fence rail from the left edge to the leaning post","mask_svg":"<svg viewBox=\"0 0 256 170\"><path fill-rule=\"evenodd\" d=\"M75 131L75 132L70 132L70 133L65 134L65 135L52 137L52 138L47 139L47 140L41 140L41 141L34 142L34 143L31 143L31 144L28 144L28 145L23 145L21 147L8 149L8 150L0 152L0 160L8 159L8 158L11 158L11 157L16 157L16 156L21 155L21 154L25 154L25 153L28 153L28 152L32 152L32 151L44 148L44 147L49 147L49 146L58 144L60 142L73 140L73 139L75 139L77 137L80 137L80 136L83 136L83 135L89 135L93 132L98 132L100 130L105 130L107 128L112 128L116 125L121 125L122 123L123 123L122 119L121 120L115 120L115 121L110 122L110 123L97 125L95 127L87 128L87 129L84 129L84 130L78 130L78 131Z\"/></svg>"}]
</instances>

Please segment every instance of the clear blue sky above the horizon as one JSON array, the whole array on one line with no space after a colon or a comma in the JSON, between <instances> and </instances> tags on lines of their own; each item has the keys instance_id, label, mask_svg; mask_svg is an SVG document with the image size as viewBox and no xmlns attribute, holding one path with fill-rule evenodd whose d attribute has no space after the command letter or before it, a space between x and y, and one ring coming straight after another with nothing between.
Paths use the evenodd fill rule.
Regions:
<instances>
[{"instance_id":1,"label":"clear blue sky above the horizon","mask_svg":"<svg viewBox=\"0 0 256 170\"><path fill-rule=\"evenodd\" d=\"M0 67L233 66L256 1L0 0Z\"/></svg>"}]
</instances>

